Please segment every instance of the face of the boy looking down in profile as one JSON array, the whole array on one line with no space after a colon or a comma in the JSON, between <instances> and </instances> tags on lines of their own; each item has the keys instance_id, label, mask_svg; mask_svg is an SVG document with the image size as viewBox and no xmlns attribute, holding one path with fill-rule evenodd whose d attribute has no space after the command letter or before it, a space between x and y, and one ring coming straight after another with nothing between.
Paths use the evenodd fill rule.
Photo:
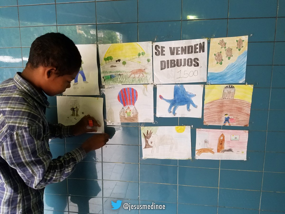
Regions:
<instances>
[{"instance_id":1,"label":"face of the boy looking down in profile","mask_svg":"<svg viewBox=\"0 0 285 214\"><path fill-rule=\"evenodd\" d=\"M74 72L73 74L66 74L63 76L58 76L53 73L48 81L46 81L45 88L43 91L48 96L54 96L56 94L61 94L65 92L66 88L70 88L70 83L75 79L78 72Z\"/></svg>"}]
</instances>

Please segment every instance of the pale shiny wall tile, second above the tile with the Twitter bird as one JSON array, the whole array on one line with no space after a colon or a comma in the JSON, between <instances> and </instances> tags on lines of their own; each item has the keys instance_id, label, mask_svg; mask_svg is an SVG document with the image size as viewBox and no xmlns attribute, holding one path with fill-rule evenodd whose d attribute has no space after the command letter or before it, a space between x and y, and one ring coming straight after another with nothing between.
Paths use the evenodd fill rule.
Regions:
<instances>
[{"instance_id":1,"label":"pale shiny wall tile, second above the tile with the Twitter bird","mask_svg":"<svg viewBox=\"0 0 285 214\"><path fill-rule=\"evenodd\" d=\"M139 182L139 164L103 163L103 179Z\"/></svg>"}]
</instances>

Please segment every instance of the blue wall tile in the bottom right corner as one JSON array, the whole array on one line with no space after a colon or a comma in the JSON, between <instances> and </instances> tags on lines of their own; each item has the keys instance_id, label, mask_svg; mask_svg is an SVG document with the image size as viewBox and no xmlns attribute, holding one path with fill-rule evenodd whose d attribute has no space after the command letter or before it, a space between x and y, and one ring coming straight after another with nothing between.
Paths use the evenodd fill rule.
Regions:
<instances>
[{"instance_id":1,"label":"blue wall tile in the bottom right corner","mask_svg":"<svg viewBox=\"0 0 285 214\"><path fill-rule=\"evenodd\" d=\"M272 211L285 211L285 193L262 192L260 209Z\"/></svg>"}]
</instances>

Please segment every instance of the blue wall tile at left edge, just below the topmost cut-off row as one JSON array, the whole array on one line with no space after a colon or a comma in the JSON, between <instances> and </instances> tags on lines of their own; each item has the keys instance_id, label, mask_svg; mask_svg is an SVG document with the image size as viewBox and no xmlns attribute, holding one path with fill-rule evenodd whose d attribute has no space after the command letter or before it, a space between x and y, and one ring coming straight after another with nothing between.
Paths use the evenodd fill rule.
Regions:
<instances>
[{"instance_id":1,"label":"blue wall tile at left edge, just below the topmost cut-off row","mask_svg":"<svg viewBox=\"0 0 285 214\"><path fill-rule=\"evenodd\" d=\"M0 27L19 26L18 7L2 7L0 15Z\"/></svg>"}]
</instances>

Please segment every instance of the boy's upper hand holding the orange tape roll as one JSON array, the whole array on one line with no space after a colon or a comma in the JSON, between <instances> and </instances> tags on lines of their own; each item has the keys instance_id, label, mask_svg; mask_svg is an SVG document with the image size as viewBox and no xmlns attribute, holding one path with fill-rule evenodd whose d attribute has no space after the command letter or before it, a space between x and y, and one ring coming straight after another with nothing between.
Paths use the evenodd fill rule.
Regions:
<instances>
[{"instance_id":1,"label":"boy's upper hand holding the orange tape roll","mask_svg":"<svg viewBox=\"0 0 285 214\"><path fill-rule=\"evenodd\" d=\"M92 129L86 128L89 125L89 120L92 120L93 122ZM89 114L85 115L83 118L81 118L81 120L78 121L78 123L73 126L72 134L74 136L78 136L87 132L97 132L96 129L93 129L95 126L100 127L100 125L93 117L91 117Z\"/></svg>"}]
</instances>

